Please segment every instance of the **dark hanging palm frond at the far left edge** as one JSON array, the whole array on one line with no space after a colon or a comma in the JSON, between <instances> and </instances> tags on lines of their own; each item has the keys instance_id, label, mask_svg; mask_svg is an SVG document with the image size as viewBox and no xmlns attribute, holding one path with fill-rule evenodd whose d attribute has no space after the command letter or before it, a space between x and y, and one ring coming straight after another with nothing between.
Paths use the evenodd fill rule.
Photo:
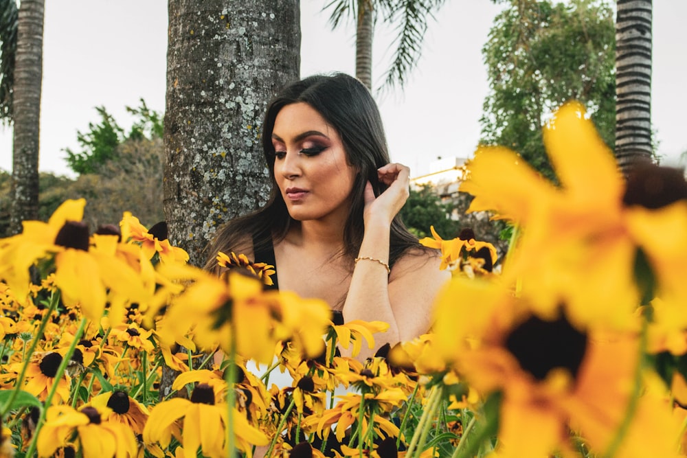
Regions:
<instances>
[{"instance_id":1,"label":"dark hanging palm frond at the far left edge","mask_svg":"<svg viewBox=\"0 0 687 458\"><path fill-rule=\"evenodd\" d=\"M16 0L0 0L0 121L5 124L12 122L12 87L18 20Z\"/></svg>"}]
</instances>

